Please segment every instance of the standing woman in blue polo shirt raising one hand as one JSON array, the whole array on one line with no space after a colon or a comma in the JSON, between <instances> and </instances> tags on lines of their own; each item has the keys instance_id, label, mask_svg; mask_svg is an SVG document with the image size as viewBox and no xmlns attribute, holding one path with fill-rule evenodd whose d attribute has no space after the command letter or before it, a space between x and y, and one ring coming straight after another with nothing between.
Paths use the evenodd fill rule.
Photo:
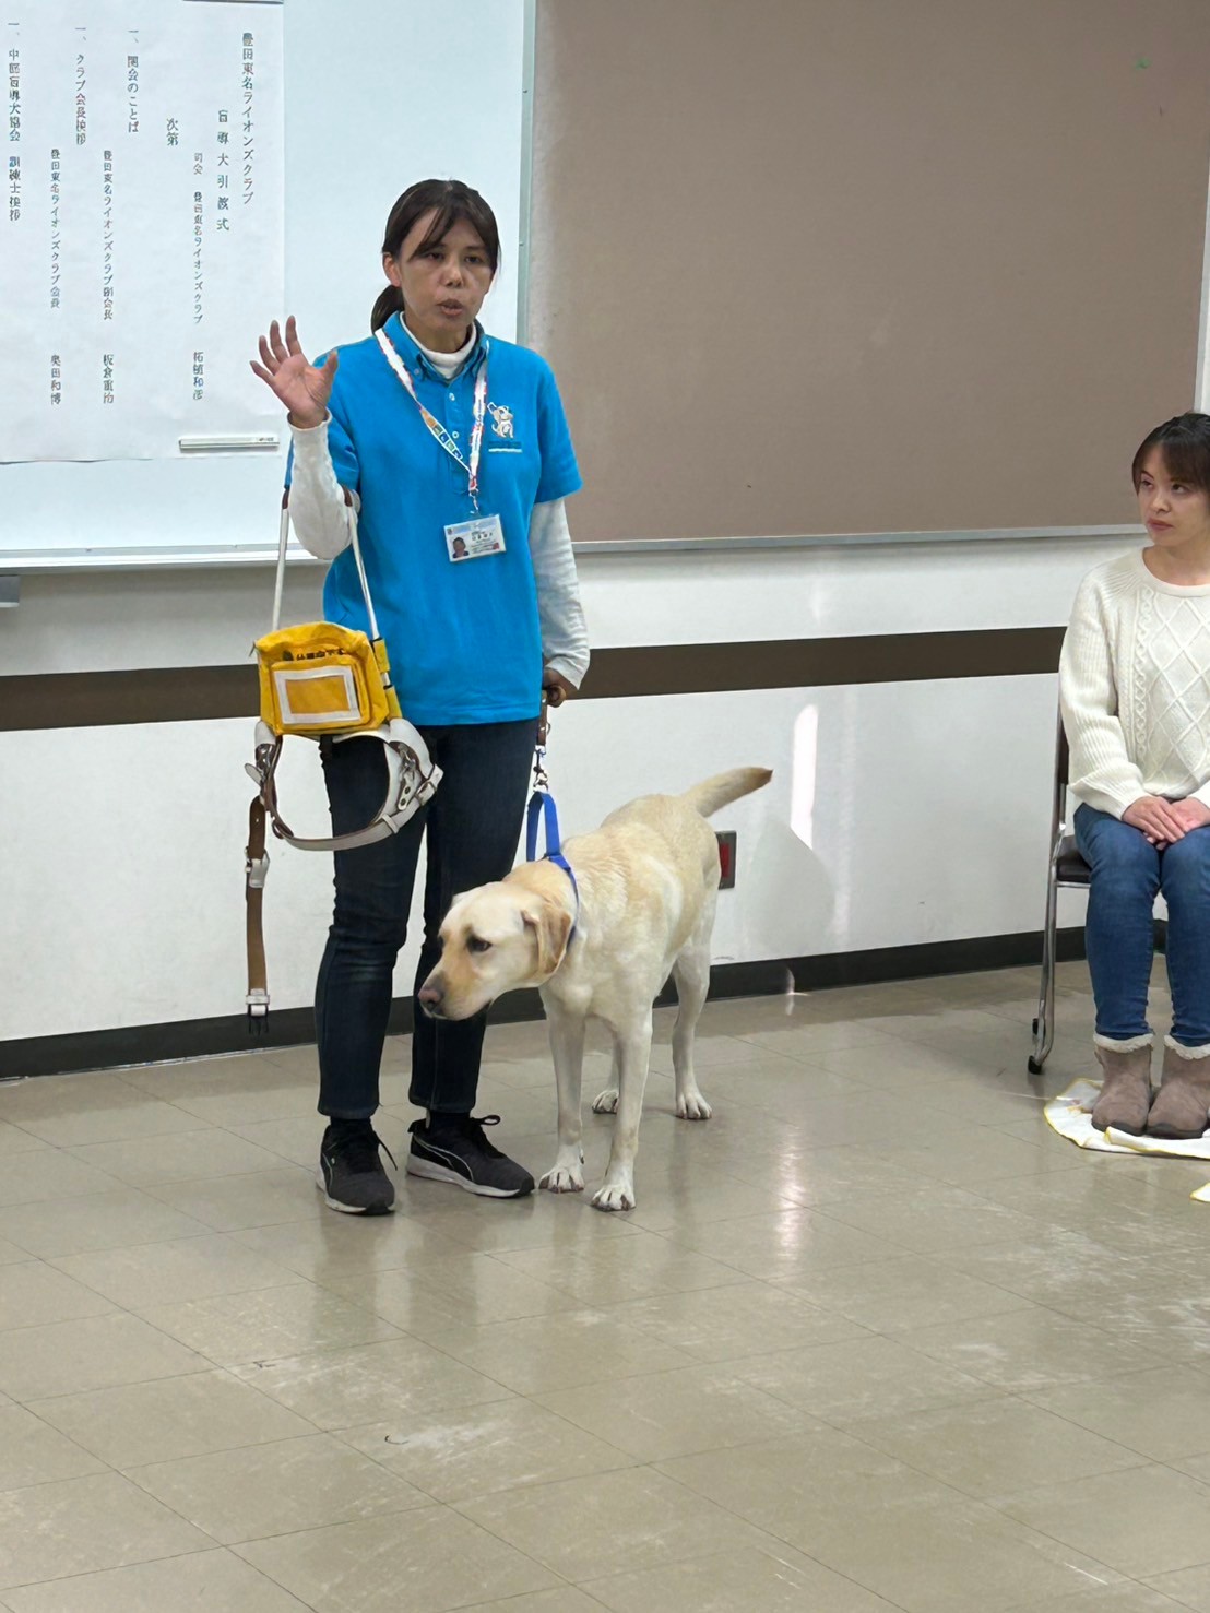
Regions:
<instances>
[{"instance_id":1,"label":"standing woman in blue polo shirt raising one hand","mask_svg":"<svg viewBox=\"0 0 1210 1613\"><path fill-rule=\"evenodd\" d=\"M424 945L460 890L502 879L524 813L542 689L558 703L589 665L565 498L581 486L549 365L478 321L500 261L484 198L426 179L395 202L382 242L387 287L368 340L311 365L294 319L261 337L253 371L286 405L290 515L298 540L331 560L329 621L365 631L348 548L348 503L403 715L444 777L432 802L376 845L336 853L336 910L315 997L319 1177L334 1210L386 1215L395 1192L373 1116L421 840L428 840ZM379 744L321 747L332 832L368 823L382 800ZM526 1169L490 1145L471 1110L486 1023L416 1016L407 1169L474 1194L531 1192Z\"/></svg>"}]
</instances>

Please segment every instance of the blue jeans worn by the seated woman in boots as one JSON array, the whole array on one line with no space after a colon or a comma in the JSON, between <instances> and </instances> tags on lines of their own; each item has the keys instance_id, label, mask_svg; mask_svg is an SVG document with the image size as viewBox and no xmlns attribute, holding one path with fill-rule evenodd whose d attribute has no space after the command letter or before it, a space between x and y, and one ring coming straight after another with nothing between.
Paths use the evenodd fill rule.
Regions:
<instances>
[{"instance_id":1,"label":"blue jeans worn by the seated woman in boots","mask_svg":"<svg viewBox=\"0 0 1210 1613\"><path fill-rule=\"evenodd\" d=\"M1074 819L1079 855L1092 869L1084 945L1097 1036L1124 1042L1149 1032L1157 892L1168 903L1168 984L1173 1040L1210 1044L1210 826L1163 850L1112 813L1081 805Z\"/></svg>"}]
</instances>

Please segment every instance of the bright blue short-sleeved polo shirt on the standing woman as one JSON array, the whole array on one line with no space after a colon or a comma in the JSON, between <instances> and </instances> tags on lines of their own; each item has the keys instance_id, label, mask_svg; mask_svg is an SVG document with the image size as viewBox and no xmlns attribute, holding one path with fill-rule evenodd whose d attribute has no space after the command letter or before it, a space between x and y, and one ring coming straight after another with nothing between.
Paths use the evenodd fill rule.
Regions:
<instances>
[{"instance_id":1,"label":"bright blue short-sleeved polo shirt on the standing woman","mask_svg":"<svg viewBox=\"0 0 1210 1613\"><path fill-rule=\"evenodd\" d=\"M581 487L555 376L537 353L481 336L444 381L398 315L386 334L468 463L474 382L487 365L479 510L500 516L505 537L503 553L450 560L445 527L473 515L466 471L432 437L374 337L340 347L328 442L336 479L361 498L361 556L403 715L434 727L534 718L542 636L529 518L536 503ZM324 613L368 627L352 548L328 571Z\"/></svg>"}]
</instances>

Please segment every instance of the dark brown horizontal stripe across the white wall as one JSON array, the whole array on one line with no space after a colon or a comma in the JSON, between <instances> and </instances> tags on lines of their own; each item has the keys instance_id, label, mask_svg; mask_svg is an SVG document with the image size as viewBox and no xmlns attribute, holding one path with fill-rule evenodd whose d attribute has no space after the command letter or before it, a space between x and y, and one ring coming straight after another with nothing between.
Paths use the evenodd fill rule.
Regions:
<instances>
[{"instance_id":1,"label":"dark brown horizontal stripe across the white wall","mask_svg":"<svg viewBox=\"0 0 1210 1613\"><path fill-rule=\"evenodd\" d=\"M597 650L582 697L620 700L934 677L1020 677L1054 673L1062 642L1062 627L1003 627ZM250 718L257 715L257 705L255 666L0 677L0 732Z\"/></svg>"}]
</instances>

